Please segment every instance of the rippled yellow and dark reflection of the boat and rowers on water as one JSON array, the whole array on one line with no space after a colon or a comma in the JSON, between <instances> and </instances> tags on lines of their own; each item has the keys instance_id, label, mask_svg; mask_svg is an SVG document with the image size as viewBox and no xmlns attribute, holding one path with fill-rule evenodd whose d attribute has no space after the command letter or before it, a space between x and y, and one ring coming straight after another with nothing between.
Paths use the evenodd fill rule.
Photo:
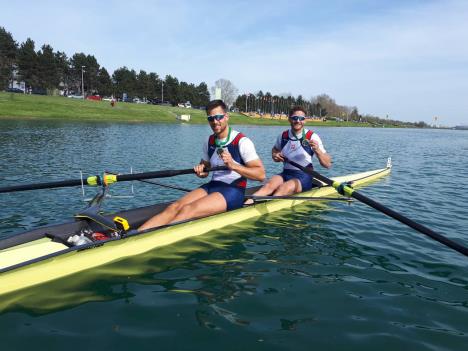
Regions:
<instances>
[{"instance_id":1,"label":"rippled yellow and dark reflection of the boat and rowers on water","mask_svg":"<svg viewBox=\"0 0 468 351\"><path fill-rule=\"evenodd\" d=\"M298 240L301 240L299 237L303 235L304 229L310 233L317 221L321 221L320 212L329 209L329 204L325 202L296 206L214 230L176 245L157 248L145 254L16 291L2 296L0 313L15 311L42 315L88 302L119 299L131 301L138 295L139 285L147 285L152 286L155 293L192 294L200 304L210 305L214 313L232 323L246 324L247 321L215 304L235 298L241 293L255 293L256 280L263 274L260 268L262 261L274 264L281 259L276 256L281 255L281 252L284 254L283 250L301 245ZM279 252L274 247L268 247L275 241L283 248ZM257 248L252 249L253 246ZM259 267L254 270L249 267L246 270L246 264L253 261L259 262ZM189 277L171 277L171 272L175 270L189 271ZM180 280L188 279L197 282L196 288L180 287L184 285ZM203 313L197 312L196 317L199 323L210 326Z\"/></svg>"}]
</instances>

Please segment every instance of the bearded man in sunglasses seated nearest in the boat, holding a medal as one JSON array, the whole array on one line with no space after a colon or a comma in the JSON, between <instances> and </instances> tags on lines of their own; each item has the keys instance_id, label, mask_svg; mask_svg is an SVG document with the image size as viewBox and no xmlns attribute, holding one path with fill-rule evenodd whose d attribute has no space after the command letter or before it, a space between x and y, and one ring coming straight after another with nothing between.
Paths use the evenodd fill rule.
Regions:
<instances>
[{"instance_id":1,"label":"bearded man in sunglasses seated nearest in the boat, holding a medal","mask_svg":"<svg viewBox=\"0 0 468 351\"><path fill-rule=\"evenodd\" d=\"M205 167L225 165L228 170L213 172L210 182L170 204L140 226L139 230L240 208L244 202L247 179L265 179L265 169L253 142L229 126L224 102L211 101L206 113L213 134L203 145L203 158L194 167L195 174L200 178L207 177Z\"/></svg>"}]
</instances>

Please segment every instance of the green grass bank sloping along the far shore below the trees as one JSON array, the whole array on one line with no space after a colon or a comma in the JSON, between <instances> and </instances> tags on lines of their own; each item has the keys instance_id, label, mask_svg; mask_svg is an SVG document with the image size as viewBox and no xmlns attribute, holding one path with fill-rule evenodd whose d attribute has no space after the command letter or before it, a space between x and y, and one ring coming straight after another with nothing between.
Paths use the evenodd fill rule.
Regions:
<instances>
[{"instance_id":1,"label":"green grass bank sloping along the far shore below the trees","mask_svg":"<svg viewBox=\"0 0 468 351\"><path fill-rule=\"evenodd\" d=\"M147 122L180 123L177 115L189 114L190 124L206 123L203 110L179 107L132 104L117 102L114 107L108 101L89 101L61 96L24 95L0 92L1 119L56 119L94 122ZM256 119L239 113L230 113L231 123L251 125L287 125L287 121ZM307 125L370 127L370 124L352 122L308 122Z\"/></svg>"}]
</instances>

